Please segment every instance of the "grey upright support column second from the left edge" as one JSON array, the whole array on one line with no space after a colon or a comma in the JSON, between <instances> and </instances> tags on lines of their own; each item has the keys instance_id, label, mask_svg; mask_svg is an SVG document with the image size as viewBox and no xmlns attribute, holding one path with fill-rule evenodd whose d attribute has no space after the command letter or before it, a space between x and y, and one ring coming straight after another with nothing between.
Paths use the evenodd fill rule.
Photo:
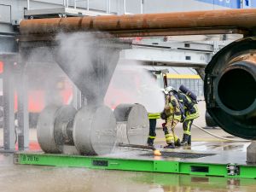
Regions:
<instances>
[{"instance_id":1,"label":"grey upright support column second from the left edge","mask_svg":"<svg viewBox=\"0 0 256 192\"><path fill-rule=\"evenodd\" d=\"M24 63L18 63L17 66L17 97L18 97L18 148L19 151L29 149L29 114L28 114L28 95L26 68Z\"/></svg>"}]
</instances>

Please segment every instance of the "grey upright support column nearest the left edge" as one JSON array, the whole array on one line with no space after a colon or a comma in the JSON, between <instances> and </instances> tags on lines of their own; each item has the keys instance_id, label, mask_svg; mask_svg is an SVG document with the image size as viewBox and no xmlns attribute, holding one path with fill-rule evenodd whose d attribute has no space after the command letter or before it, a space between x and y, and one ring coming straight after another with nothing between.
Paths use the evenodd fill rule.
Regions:
<instances>
[{"instance_id":1,"label":"grey upright support column nearest the left edge","mask_svg":"<svg viewBox=\"0 0 256 192\"><path fill-rule=\"evenodd\" d=\"M15 55L3 56L3 149L15 151Z\"/></svg>"}]
</instances>

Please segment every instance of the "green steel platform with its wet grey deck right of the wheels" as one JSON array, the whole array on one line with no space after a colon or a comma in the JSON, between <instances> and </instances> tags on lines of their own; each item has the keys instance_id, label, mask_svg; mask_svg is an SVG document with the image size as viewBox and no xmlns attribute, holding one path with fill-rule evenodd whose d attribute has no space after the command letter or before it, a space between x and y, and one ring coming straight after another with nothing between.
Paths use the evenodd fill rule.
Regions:
<instances>
[{"instance_id":1,"label":"green steel platform with its wet grey deck right of the wheels","mask_svg":"<svg viewBox=\"0 0 256 192\"><path fill-rule=\"evenodd\" d=\"M237 151L197 152L162 149L152 151L122 149L113 154L81 156L68 154L16 153L14 161L22 165L70 166L92 169L166 172L200 176L256 178L256 165L246 163L246 153Z\"/></svg>"}]
</instances>

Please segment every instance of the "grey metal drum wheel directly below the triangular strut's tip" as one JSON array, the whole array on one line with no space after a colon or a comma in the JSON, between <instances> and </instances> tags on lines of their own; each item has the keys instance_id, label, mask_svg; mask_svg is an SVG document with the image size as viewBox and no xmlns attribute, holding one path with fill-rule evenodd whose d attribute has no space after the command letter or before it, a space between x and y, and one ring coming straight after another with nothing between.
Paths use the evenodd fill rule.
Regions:
<instances>
[{"instance_id":1,"label":"grey metal drum wheel directly below the triangular strut's tip","mask_svg":"<svg viewBox=\"0 0 256 192\"><path fill-rule=\"evenodd\" d=\"M73 140L80 154L109 154L116 137L116 120L110 108L84 107L76 113Z\"/></svg>"}]
</instances>

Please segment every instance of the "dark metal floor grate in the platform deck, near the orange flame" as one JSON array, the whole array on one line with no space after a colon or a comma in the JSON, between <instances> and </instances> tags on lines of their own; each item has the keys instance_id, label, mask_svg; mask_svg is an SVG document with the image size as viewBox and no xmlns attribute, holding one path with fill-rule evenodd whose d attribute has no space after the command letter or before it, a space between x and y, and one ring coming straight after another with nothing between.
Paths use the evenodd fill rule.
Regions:
<instances>
[{"instance_id":1,"label":"dark metal floor grate in the platform deck, near the orange flame","mask_svg":"<svg viewBox=\"0 0 256 192\"><path fill-rule=\"evenodd\" d=\"M176 157L176 158L182 158L182 159L193 159L193 158L201 158L201 157L207 157L212 156L214 154L195 154L195 153L181 153L181 152L166 152L161 151L162 157ZM142 156L148 156L153 157L154 154L148 153L148 154L141 154Z\"/></svg>"}]
</instances>

